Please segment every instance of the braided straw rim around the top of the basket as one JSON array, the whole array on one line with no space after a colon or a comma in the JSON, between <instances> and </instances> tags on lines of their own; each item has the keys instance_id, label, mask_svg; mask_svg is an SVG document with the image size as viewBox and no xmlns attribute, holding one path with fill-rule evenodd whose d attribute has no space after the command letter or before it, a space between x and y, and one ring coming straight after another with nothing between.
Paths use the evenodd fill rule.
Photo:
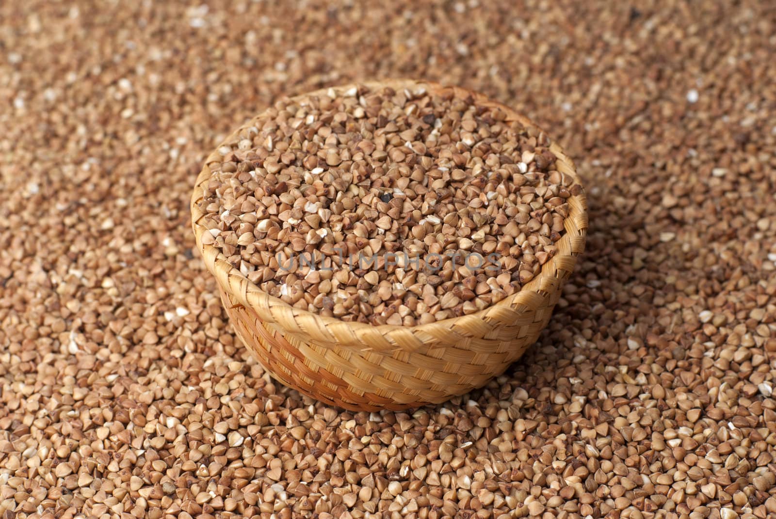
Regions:
<instances>
[{"instance_id":1,"label":"braided straw rim around the top of the basket","mask_svg":"<svg viewBox=\"0 0 776 519\"><path fill-rule=\"evenodd\" d=\"M466 98L472 96L480 106L490 106L498 108L507 114L507 121L518 121L528 127L533 126L536 130L544 131L539 126L521 115L509 106L501 102L494 101L486 95L474 92L467 88L456 86L444 86L434 81L417 80L411 78L391 79L385 81L360 81L349 83L347 85L331 86L320 88L312 92L305 92L300 95L293 95L289 99L304 99L312 95L327 95L333 89L334 92L344 92L352 88L383 88L390 87L394 89L407 88L417 92L419 88L425 88L427 92L435 94L449 93L455 97ZM267 107L269 108L269 106ZM259 112L257 116L264 111ZM584 185L580 182L577 174L577 168L573 161L564 152L563 148L550 140L549 150L556 155L556 168L566 175L573 177L574 182L583 186L583 189L577 195L571 195L567 200L570 205L570 213L563 220L565 232L558 244L563 241L575 240L577 251L574 247L558 247L558 253L550 258L546 264L542 265L539 274L530 282L521 286L518 292L507 296L501 301L487 306L483 310L459 317L449 317L445 320L438 320L428 324L416 324L412 327L405 327L393 324L368 324L360 322L348 322L340 320L337 317L321 316L318 313L309 310L298 309L282 299L270 296L264 292L247 276L240 272L239 268L232 265L225 255L212 244L203 244L201 237L206 232L200 221L205 214L199 209L199 202L203 199L203 185L210 181L211 172L209 164L220 161L221 155L218 152L223 145L234 141L239 133L245 128L251 126L255 117L251 117L242 124L237 130L223 139L214 151L206 158L202 170L196 178L194 190L191 196L191 222L194 232L196 245L199 253L203 257L207 270L215 276L217 282L224 291L228 292L234 299L242 305L253 310L267 324L276 324L279 327L289 331L289 333L307 334L308 336L317 336L320 339L331 339L337 337L336 342L340 346L357 346L359 348L368 348L374 350L383 350L391 348L402 348L414 350L417 347L417 339L424 343L432 343L437 337L449 337L452 330L459 331L462 337L470 336L466 330L476 327L477 324L489 322L491 320L500 320L503 317L502 310L514 310L518 312L535 309L549 297L555 289L558 289L559 277L558 266L562 261L566 261L573 268L576 257L584 250L585 237L587 235L587 197L584 192ZM563 248L570 249L570 252L562 252ZM564 266L563 270L568 270ZM303 324L300 323L303 321ZM372 341L365 341L366 335ZM379 336L383 339L379 340Z\"/></svg>"}]
</instances>

